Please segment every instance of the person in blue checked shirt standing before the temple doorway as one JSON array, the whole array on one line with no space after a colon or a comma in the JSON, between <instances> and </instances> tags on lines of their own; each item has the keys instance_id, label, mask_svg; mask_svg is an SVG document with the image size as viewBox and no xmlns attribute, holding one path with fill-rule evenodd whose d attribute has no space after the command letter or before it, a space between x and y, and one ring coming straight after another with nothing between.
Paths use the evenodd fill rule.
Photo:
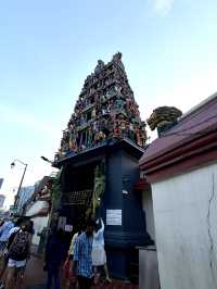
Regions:
<instances>
[{"instance_id":1,"label":"person in blue checked shirt standing before the temple doorway","mask_svg":"<svg viewBox=\"0 0 217 289\"><path fill-rule=\"evenodd\" d=\"M86 230L75 242L72 271L77 276L79 289L90 289L93 279L92 241L95 223L89 219Z\"/></svg>"}]
</instances>

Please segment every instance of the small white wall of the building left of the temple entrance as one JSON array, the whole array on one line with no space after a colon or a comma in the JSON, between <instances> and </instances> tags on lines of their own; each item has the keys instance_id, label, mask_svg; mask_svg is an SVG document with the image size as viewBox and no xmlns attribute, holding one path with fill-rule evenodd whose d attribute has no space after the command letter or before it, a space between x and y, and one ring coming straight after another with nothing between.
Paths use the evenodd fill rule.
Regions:
<instances>
[{"instance_id":1,"label":"small white wall of the building left of the temple entrance","mask_svg":"<svg viewBox=\"0 0 217 289\"><path fill-rule=\"evenodd\" d=\"M49 203L47 201L37 201L28 209L28 211L26 212L26 216L31 216L38 213L41 209L44 209L48 206L49 206ZM35 229L35 234L34 234L31 242L34 244L39 244L40 237L38 236L38 233L41 233L43 227L48 226L49 216L38 216L31 219L34 222L34 229Z\"/></svg>"}]
</instances>

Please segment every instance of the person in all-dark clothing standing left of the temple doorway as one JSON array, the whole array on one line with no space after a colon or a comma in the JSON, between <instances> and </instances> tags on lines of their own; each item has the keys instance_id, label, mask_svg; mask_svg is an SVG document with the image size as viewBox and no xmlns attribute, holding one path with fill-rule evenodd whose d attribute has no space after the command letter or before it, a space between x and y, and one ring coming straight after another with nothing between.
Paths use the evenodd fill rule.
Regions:
<instances>
[{"instance_id":1,"label":"person in all-dark clothing standing left of the temple doorway","mask_svg":"<svg viewBox=\"0 0 217 289\"><path fill-rule=\"evenodd\" d=\"M48 240L46 248L44 271L48 272L47 289L61 288L60 268L67 255L67 247L63 229L59 229Z\"/></svg>"}]
</instances>

